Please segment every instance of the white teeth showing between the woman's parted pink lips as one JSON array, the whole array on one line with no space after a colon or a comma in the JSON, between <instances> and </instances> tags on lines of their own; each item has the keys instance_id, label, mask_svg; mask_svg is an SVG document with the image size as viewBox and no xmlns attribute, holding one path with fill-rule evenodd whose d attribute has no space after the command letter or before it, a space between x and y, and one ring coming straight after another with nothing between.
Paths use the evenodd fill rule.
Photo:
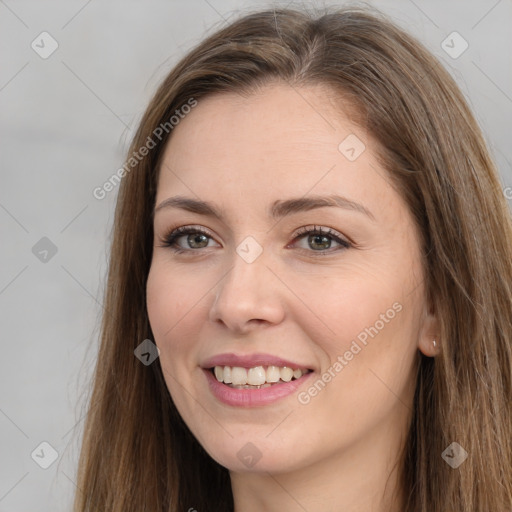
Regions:
<instances>
[{"instance_id":1,"label":"white teeth showing between the woman's parted pink lips","mask_svg":"<svg viewBox=\"0 0 512 512\"><path fill-rule=\"evenodd\" d=\"M287 366L214 366L210 371L218 382L235 389L262 389L300 379L312 370Z\"/></svg>"}]
</instances>

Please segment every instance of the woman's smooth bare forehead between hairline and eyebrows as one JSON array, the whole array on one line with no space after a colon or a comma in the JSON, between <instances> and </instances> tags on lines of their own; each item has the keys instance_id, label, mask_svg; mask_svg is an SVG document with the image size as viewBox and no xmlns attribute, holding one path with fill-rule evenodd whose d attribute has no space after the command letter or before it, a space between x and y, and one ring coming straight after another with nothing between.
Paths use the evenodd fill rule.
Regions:
<instances>
[{"instance_id":1,"label":"woman's smooth bare forehead between hairline and eyebrows","mask_svg":"<svg viewBox=\"0 0 512 512\"><path fill-rule=\"evenodd\" d=\"M347 158L347 144L360 153L357 158ZM173 129L157 203L191 193L265 203L340 193L382 203L392 199L383 193L387 181L374 142L343 114L332 91L273 85L249 96L222 93L198 101Z\"/></svg>"}]
</instances>

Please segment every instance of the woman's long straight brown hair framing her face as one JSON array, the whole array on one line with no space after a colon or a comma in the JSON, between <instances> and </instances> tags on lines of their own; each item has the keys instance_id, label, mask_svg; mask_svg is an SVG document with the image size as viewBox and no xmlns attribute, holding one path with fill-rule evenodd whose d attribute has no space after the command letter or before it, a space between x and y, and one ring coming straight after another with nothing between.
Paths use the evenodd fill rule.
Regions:
<instances>
[{"instance_id":1,"label":"woman's long straight brown hair framing her face","mask_svg":"<svg viewBox=\"0 0 512 512\"><path fill-rule=\"evenodd\" d=\"M402 457L407 512L512 509L512 220L482 133L449 73L380 12L361 7L246 14L190 51L165 78L136 132L120 183L101 343L84 428L75 512L232 511L229 472L181 420L145 302L156 183L169 119L193 99L280 81L324 84L352 121L421 233L426 297L440 320L439 357L418 351ZM161 140L155 130L168 123ZM158 132L160 133L160 132ZM468 458L450 467L457 442Z\"/></svg>"}]
</instances>

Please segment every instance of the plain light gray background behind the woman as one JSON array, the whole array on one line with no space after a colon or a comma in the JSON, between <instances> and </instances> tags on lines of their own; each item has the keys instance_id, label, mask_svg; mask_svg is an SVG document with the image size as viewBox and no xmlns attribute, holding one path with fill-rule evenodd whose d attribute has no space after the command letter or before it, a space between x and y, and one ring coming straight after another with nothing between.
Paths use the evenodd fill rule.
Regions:
<instances>
[{"instance_id":1,"label":"plain light gray background behind the woman","mask_svg":"<svg viewBox=\"0 0 512 512\"><path fill-rule=\"evenodd\" d=\"M71 508L117 194L100 201L93 189L122 165L159 81L207 31L244 8L294 4L0 0L0 512ZM512 1L374 4L455 77L506 192L512 186ZM46 59L31 47L34 40L43 45L43 31L59 45ZM458 58L441 46L453 31L469 44ZM37 254L48 244L43 237L55 254ZM35 462L50 461L49 449L39 447L43 441L58 452L48 469Z\"/></svg>"}]
</instances>

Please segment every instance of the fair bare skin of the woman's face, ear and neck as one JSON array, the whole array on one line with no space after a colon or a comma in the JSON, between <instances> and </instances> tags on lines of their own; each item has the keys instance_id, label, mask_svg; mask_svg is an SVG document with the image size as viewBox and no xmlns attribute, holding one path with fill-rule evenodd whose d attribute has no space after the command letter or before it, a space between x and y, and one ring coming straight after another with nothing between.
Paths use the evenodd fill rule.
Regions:
<instances>
[{"instance_id":1,"label":"fair bare skin of the woman's face, ear and neck","mask_svg":"<svg viewBox=\"0 0 512 512\"><path fill-rule=\"evenodd\" d=\"M366 146L355 161L338 150L349 134ZM169 392L230 470L237 512L401 510L393 467L409 428L417 351L436 355L438 324L425 303L418 233L375 144L325 87L271 84L247 97L201 99L165 150L156 205L184 195L214 203L225 218L156 213L148 315ZM333 207L267 216L276 200L334 192L375 220ZM163 245L168 230L190 225L211 238L194 245L182 235L184 254ZM315 225L353 247L296 237ZM236 252L247 236L263 249L252 263ZM256 408L222 404L209 391L200 364L225 352L292 359L316 381L394 303L400 312L307 404L298 393L310 384ZM252 467L237 457L249 442L261 454Z\"/></svg>"}]
</instances>

